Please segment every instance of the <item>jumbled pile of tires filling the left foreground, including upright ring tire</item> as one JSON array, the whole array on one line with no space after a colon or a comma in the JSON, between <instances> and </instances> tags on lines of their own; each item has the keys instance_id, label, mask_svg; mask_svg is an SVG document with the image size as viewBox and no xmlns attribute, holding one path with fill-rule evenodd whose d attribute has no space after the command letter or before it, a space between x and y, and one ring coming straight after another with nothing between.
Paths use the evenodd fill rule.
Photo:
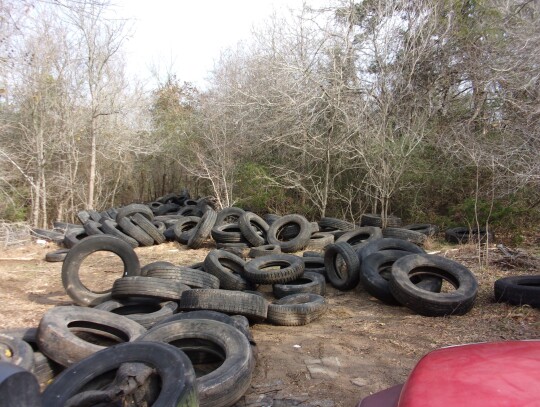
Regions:
<instances>
[{"instance_id":1,"label":"jumbled pile of tires filling the left foreground, including upright ring tire","mask_svg":"<svg viewBox=\"0 0 540 407\"><path fill-rule=\"evenodd\" d=\"M102 292L79 276L97 251L114 253L124 267ZM255 368L250 323L305 325L327 309L323 274L306 271L310 258L257 248L251 255L246 261L216 249L202 264L141 267L124 240L89 236L62 265L63 286L77 305L50 309L37 328L4 331L0 346L34 374L47 406L232 406ZM274 301L257 291L266 285Z\"/></svg>"}]
</instances>

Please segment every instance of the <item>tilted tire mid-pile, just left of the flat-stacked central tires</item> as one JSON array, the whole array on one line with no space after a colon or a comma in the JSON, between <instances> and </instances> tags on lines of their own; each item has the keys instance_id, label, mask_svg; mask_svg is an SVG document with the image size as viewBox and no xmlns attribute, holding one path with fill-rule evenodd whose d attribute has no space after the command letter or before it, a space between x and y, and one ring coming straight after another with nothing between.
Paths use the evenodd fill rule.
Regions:
<instances>
[{"instance_id":1,"label":"tilted tire mid-pile, just left of the flat-stacked central tires","mask_svg":"<svg viewBox=\"0 0 540 407\"><path fill-rule=\"evenodd\" d=\"M224 250L212 250L204 259L204 270L219 279L224 290L243 291L252 288L243 276L246 262Z\"/></svg>"}]
</instances>

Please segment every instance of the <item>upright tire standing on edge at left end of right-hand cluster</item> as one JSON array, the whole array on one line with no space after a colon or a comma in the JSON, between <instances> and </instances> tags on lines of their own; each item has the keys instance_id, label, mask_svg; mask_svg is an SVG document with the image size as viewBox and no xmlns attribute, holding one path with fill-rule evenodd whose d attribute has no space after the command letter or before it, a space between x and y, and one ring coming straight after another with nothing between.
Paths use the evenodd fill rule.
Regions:
<instances>
[{"instance_id":1,"label":"upright tire standing on edge at left end of right-hand cluster","mask_svg":"<svg viewBox=\"0 0 540 407\"><path fill-rule=\"evenodd\" d=\"M346 242L335 243L326 248L324 267L328 281L338 290L352 290L360 281L360 260Z\"/></svg>"}]
</instances>

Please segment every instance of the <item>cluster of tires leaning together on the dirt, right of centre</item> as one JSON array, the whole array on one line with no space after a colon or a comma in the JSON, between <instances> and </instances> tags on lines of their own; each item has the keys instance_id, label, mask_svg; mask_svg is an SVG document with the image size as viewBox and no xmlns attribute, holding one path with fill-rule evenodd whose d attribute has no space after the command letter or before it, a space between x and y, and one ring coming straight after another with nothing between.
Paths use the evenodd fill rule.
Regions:
<instances>
[{"instance_id":1,"label":"cluster of tires leaning together on the dirt, right of centre","mask_svg":"<svg viewBox=\"0 0 540 407\"><path fill-rule=\"evenodd\" d=\"M377 227L360 227L328 246L324 264L330 284L340 290L361 284L384 303L426 316L463 315L472 308L478 283L468 268L426 254L406 234L383 236ZM443 281L454 290L441 292Z\"/></svg>"}]
</instances>

